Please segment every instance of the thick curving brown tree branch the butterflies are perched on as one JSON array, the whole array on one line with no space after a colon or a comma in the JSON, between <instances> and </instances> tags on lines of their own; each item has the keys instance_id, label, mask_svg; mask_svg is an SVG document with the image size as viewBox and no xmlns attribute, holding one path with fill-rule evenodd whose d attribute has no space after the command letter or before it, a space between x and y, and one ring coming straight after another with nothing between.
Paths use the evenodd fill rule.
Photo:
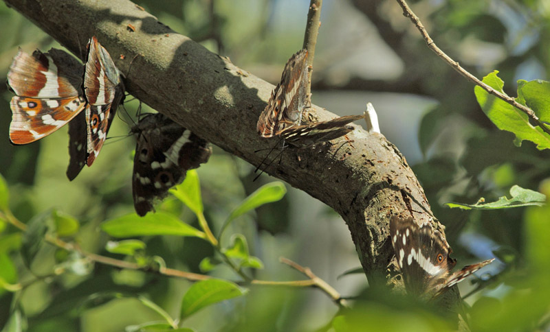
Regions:
<instances>
[{"instance_id":1,"label":"thick curving brown tree branch the butterflies are perched on","mask_svg":"<svg viewBox=\"0 0 550 332\"><path fill-rule=\"evenodd\" d=\"M223 150L259 165L267 152L254 151L274 145L256 134L274 86L175 33L130 1L5 1L74 54L84 54L87 39L97 36L125 73L130 93ZM129 24L135 31L127 29ZM314 108L320 119L334 117ZM348 136L353 143L289 148L282 162L266 171L338 211L369 282L386 283L393 256L389 216L428 220L430 206L394 145L360 129Z\"/></svg>"}]
</instances>

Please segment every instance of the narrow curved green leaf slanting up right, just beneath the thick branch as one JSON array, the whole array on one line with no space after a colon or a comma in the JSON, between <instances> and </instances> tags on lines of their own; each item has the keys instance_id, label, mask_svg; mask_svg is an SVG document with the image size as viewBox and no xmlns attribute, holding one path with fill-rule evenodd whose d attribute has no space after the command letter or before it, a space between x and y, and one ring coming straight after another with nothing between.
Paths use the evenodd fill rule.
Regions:
<instances>
[{"instance_id":1,"label":"narrow curved green leaf slanting up right, just beneath the thick branch","mask_svg":"<svg viewBox=\"0 0 550 332\"><path fill-rule=\"evenodd\" d=\"M239 217L252 209L256 209L258 206L262 206L263 204L277 202L278 200L281 200L286 193L287 188L283 182L267 183L267 185L263 185L251 193L230 213L228 219L225 220L223 226L221 226L218 239L221 239L221 235L223 235L225 228L227 228L236 217Z\"/></svg>"}]
</instances>

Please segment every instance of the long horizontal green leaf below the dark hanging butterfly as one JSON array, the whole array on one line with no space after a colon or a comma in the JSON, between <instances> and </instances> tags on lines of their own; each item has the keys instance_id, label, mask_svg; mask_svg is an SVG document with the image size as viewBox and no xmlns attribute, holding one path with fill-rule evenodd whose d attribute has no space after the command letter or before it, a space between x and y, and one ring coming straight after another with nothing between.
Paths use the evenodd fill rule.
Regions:
<instances>
[{"instance_id":1,"label":"long horizontal green leaf below the dark hanging butterfly","mask_svg":"<svg viewBox=\"0 0 550 332\"><path fill-rule=\"evenodd\" d=\"M139 217L135 213L107 220L101 229L113 237L134 237L143 235L178 235L184 237L206 236L197 228L189 226L168 213L148 213Z\"/></svg>"}]
</instances>

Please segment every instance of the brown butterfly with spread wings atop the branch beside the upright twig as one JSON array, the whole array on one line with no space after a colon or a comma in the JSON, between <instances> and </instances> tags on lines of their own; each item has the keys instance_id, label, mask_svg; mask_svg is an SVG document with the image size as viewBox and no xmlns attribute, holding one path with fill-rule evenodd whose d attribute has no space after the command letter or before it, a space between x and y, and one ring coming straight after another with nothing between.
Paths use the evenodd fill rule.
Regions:
<instances>
[{"instance_id":1,"label":"brown butterfly with spread wings atop the branch beside the upright twig","mask_svg":"<svg viewBox=\"0 0 550 332\"><path fill-rule=\"evenodd\" d=\"M364 117L350 115L302 125L303 112L311 105L307 84L307 50L300 49L285 64L281 82L259 117L256 130L261 137L282 137L293 145L307 146L344 136L353 130L348 123Z\"/></svg>"}]
</instances>

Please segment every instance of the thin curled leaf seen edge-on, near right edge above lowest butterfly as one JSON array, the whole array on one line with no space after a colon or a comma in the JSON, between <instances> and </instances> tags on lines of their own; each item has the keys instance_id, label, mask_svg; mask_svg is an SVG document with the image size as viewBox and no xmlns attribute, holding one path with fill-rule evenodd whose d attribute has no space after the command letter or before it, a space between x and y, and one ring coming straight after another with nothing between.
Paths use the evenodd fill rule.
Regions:
<instances>
[{"instance_id":1,"label":"thin curled leaf seen edge-on, near right edge above lowest butterfly","mask_svg":"<svg viewBox=\"0 0 550 332\"><path fill-rule=\"evenodd\" d=\"M533 191L530 189L524 189L518 185L514 185L510 189L511 198L506 196L498 198L496 202L485 203L485 200L481 198L476 204L461 204L461 203L445 203L450 208L459 208L464 210L480 209L480 210L494 210L494 209L509 209L518 206L543 206L546 202L546 195Z\"/></svg>"}]
</instances>

